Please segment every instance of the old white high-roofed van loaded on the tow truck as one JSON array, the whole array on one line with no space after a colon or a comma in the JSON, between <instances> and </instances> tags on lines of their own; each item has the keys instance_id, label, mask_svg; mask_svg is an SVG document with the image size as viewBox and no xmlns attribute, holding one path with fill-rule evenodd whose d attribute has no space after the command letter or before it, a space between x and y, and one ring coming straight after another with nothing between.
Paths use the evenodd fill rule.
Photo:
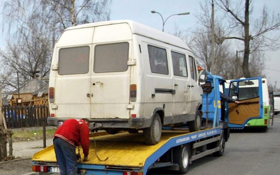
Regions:
<instances>
[{"instance_id":1,"label":"old white high-roofed van loaded on the tow truck","mask_svg":"<svg viewBox=\"0 0 280 175\"><path fill-rule=\"evenodd\" d=\"M88 118L110 134L143 130L156 144L162 125L200 129L198 76L193 53L173 35L130 20L69 27L54 48L48 124Z\"/></svg>"}]
</instances>

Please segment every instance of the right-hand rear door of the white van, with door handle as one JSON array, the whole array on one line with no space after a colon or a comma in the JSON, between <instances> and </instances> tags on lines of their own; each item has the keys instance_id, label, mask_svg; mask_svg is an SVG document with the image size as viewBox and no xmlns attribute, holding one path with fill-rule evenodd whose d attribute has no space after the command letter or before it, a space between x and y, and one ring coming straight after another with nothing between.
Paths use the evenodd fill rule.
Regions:
<instances>
[{"instance_id":1,"label":"right-hand rear door of the white van, with door handle","mask_svg":"<svg viewBox=\"0 0 280 175\"><path fill-rule=\"evenodd\" d=\"M130 118L132 33L126 23L98 26L93 37L90 118Z\"/></svg>"}]
</instances>

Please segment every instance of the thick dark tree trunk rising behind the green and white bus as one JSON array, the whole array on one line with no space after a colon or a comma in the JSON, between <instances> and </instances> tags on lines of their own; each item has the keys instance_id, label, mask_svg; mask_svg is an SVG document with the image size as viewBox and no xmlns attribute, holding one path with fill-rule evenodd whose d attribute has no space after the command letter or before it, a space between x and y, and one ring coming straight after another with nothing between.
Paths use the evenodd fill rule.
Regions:
<instances>
[{"instance_id":1,"label":"thick dark tree trunk rising behind the green and white bus","mask_svg":"<svg viewBox=\"0 0 280 175\"><path fill-rule=\"evenodd\" d=\"M250 55L250 35L249 35L249 0L245 2L245 24L244 24L244 57L242 63L243 75L245 78L250 78L249 72L249 55Z\"/></svg>"}]
</instances>

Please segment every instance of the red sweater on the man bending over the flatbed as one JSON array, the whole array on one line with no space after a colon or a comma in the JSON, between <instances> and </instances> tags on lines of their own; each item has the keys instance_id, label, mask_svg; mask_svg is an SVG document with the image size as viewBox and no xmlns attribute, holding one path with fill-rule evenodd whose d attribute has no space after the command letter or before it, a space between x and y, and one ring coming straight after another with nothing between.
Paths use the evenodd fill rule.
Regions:
<instances>
[{"instance_id":1,"label":"red sweater on the man bending over the flatbed","mask_svg":"<svg viewBox=\"0 0 280 175\"><path fill-rule=\"evenodd\" d=\"M84 120L65 120L53 136L61 138L73 146L81 145L84 156L89 155L89 128Z\"/></svg>"}]
</instances>

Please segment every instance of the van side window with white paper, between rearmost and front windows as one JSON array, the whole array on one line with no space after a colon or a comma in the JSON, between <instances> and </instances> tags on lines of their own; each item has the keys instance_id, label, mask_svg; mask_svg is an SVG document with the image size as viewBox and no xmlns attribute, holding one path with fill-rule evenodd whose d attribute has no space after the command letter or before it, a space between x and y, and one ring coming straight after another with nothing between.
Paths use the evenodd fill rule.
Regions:
<instances>
[{"instance_id":1,"label":"van side window with white paper, between rearmost and front windows","mask_svg":"<svg viewBox=\"0 0 280 175\"><path fill-rule=\"evenodd\" d=\"M177 52L171 51L173 74L176 76L188 77L186 56Z\"/></svg>"}]
</instances>

